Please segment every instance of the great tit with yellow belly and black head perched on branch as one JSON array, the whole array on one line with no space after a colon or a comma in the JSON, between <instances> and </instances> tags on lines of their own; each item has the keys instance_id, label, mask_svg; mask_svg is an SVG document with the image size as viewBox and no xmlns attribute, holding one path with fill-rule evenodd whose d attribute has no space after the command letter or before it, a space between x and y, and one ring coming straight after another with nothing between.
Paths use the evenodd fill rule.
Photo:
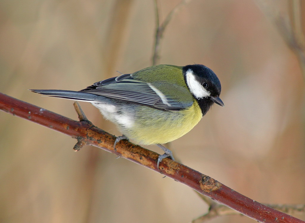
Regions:
<instances>
[{"instance_id":1,"label":"great tit with yellow belly and black head perched on branch","mask_svg":"<svg viewBox=\"0 0 305 223\"><path fill-rule=\"evenodd\" d=\"M219 98L221 84L216 74L204 65L184 67L156 65L132 74L123 74L94 83L80 91L31 90L51 97L87 101L99 108L102 115L117 125L123 136L136 144L161 144L173 141L190 131Z\"/></svg>"}]
</instances>

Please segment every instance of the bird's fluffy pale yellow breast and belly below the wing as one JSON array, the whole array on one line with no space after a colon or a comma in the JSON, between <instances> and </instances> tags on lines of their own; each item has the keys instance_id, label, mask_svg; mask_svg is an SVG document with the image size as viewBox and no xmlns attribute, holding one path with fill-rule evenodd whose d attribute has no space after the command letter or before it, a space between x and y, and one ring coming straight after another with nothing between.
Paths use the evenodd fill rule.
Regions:
<instances>
[{"instance_id":1,"label":"bird's fluffy pale yellow breast and belly below the wing","mask_svg":"<svg viewBox=\"0 0 305 223\"><path fill-rule=\"evenodd\" d=\"M132 128L121 128L129 139L137 144L164 144L188 133L202 118L196 101L181 111L163 111L139 106Z\"/></svg>"}]
</instances>

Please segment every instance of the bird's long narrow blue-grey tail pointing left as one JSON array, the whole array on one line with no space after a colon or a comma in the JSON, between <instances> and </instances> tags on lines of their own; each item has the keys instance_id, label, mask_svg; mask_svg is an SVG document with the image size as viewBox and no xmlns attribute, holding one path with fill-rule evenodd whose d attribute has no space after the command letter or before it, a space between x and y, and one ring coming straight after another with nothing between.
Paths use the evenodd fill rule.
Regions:
<instances>
[{"instance_id":1,"label":"bird's long narrow blue-grey tail pointing left","mask_svg":"<svg viewBox=\"0 0 305 223\"><path fill-rule=\"evenodd\" d=\"M36 90L30 89L32 92L47 95L50 97L66 98L74 101L87 101L97 102L105 98L96 94L79 92L79 91L67 91L67 90Z\"/></svg>"}]
</instances>

